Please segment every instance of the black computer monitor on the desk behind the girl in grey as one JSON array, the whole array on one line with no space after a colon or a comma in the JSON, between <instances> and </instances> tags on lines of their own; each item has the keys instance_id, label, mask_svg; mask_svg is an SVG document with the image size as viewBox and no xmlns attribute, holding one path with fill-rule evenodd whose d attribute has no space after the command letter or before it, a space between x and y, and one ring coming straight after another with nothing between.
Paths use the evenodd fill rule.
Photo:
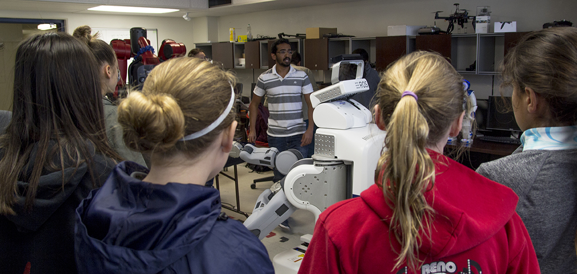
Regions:
<instances>
[{"instance_id":1,"label":"black computer monitor on the desk behind the girl in grey","mask_svg":"<svg viewBox=\"0 0 577 274\"><path fill-rule=\"evenodd\" d=\"M486 129L520 132L513 111L505 112L505 106L511 106L511 97L489 96Z\"/></svg>"}]
</instances>

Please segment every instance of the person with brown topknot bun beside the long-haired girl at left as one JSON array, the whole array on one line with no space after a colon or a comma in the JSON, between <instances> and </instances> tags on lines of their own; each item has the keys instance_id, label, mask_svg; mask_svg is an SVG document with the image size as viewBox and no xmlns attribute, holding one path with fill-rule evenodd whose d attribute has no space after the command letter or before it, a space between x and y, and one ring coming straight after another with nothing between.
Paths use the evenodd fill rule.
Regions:
<instances>
[{"instance_id":1,"label":"person with brown topknot bun beside the long-haired girl at left","mask_svg":"<svg viewBox=\"0 0 577 274\"><path fill-rule=\"evenodd\" d=\"M108 144L110 144L123 159L145 166L143 155L140 152L128 149L122 140L122 128L118 125L118 106L104 96L106 93L114 92L117 82L120 80L116 54L109 44L98 39L98 33L92 36L91 32L92 29L84 25L74 29L72 35L88 45L92 54L96 57L96 62L98 62L99 76L102 82L102 102L104 103Z\"/></svg>"}]
</instances>

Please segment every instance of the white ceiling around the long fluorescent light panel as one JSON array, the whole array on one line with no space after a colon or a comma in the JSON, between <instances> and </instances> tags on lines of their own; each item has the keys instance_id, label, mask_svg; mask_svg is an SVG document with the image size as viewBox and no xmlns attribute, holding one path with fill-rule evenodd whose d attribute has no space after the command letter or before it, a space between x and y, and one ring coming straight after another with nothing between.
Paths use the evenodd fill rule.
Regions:
<instances>
[{"instance_id":1,"label":"white ceiling around the long fluorescent light panel","mask_svg":"<svg viewBox=\"0 0 577 274\"><path fill-rule=\"evenodd\" d=\"M52 2L48 1L28 1L28 0L0 0L3 10L17 10L25 12L63 12L63 13L87 13L87 14L118 14L136 15L136 13L110 13L87 10L89 7L102 5L102 0L86 3ZM97 2L98 1L98 2ZM189 0L198 1L198 0ZM208 1L208 0L207 0ZM159 17L181 17L182 12L188 12L189 17L201 16L227 16L240 13L263 12L266 10L288 9L293 7L316 6L330 3L356 2L361 0L233 0L233 5L212 7L210 9L181 9L179 12L163 14L147 14L147 16ZM143 1L144 2L144 1ZM146 1L150 2L150 1ZM150 7L151 5L131 5L139 7ZM158 7L158 6L154 6Z\"/></svg>"}]
</instances>

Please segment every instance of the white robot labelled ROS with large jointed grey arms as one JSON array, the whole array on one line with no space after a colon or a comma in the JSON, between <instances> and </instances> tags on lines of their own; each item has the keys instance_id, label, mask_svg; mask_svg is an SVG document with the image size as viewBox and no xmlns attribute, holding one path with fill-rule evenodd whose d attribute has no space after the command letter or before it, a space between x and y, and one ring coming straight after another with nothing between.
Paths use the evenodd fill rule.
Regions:
<instances>
[{"instance_id":1,"label":"white robot labelled ROS with large jointed grey arms","mask_svg":"<svg viewBox=\"0 0 577 274\"><path fill-rule=\"evenodd\" d=\"M295 149L256 148L247 144L239 156L248 163L276 167L286 175L278 192L265 190L245 226L259 239L288 219L298 208L314 214L338 201L358 196L374 183L374 170L383 150L385 132L372 121L371 112L349 99L368 91L362 78L364 62L358 55L342 55L332 69L332 85L310 96L314 123L312 159Z\"/></svg>"}]
</instances>

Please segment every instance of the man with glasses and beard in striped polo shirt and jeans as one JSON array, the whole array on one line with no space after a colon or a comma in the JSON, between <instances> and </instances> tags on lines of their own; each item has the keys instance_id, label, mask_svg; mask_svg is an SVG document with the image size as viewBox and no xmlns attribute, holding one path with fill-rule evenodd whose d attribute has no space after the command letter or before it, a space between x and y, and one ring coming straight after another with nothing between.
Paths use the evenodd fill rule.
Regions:
<instances>
[{"instance_id":1,"label":"man with glasses and beard in striped polo shirt and jeans","mask_svg":"<svg viewBox=\"0 0 577 274\"><path fill-rule=\"evenodd\" d=\"M256 122L258 104L264 95L268 97L268 147L274 147L279 152L287 149L297 149L306 157L306 145L313 140L313 107L310 103L310 93L313 86L305 72L291 66L293 49L287 39L278 39L271 45L271 57L276 64L258 76L254 95L249 107L250 132L249 142L256 140ZM302 115L301 95L304 95L308 106L309 125L306 126ZM282 179L282 174L274 170L275 179Z\"/></svg>"}]
</instances>

